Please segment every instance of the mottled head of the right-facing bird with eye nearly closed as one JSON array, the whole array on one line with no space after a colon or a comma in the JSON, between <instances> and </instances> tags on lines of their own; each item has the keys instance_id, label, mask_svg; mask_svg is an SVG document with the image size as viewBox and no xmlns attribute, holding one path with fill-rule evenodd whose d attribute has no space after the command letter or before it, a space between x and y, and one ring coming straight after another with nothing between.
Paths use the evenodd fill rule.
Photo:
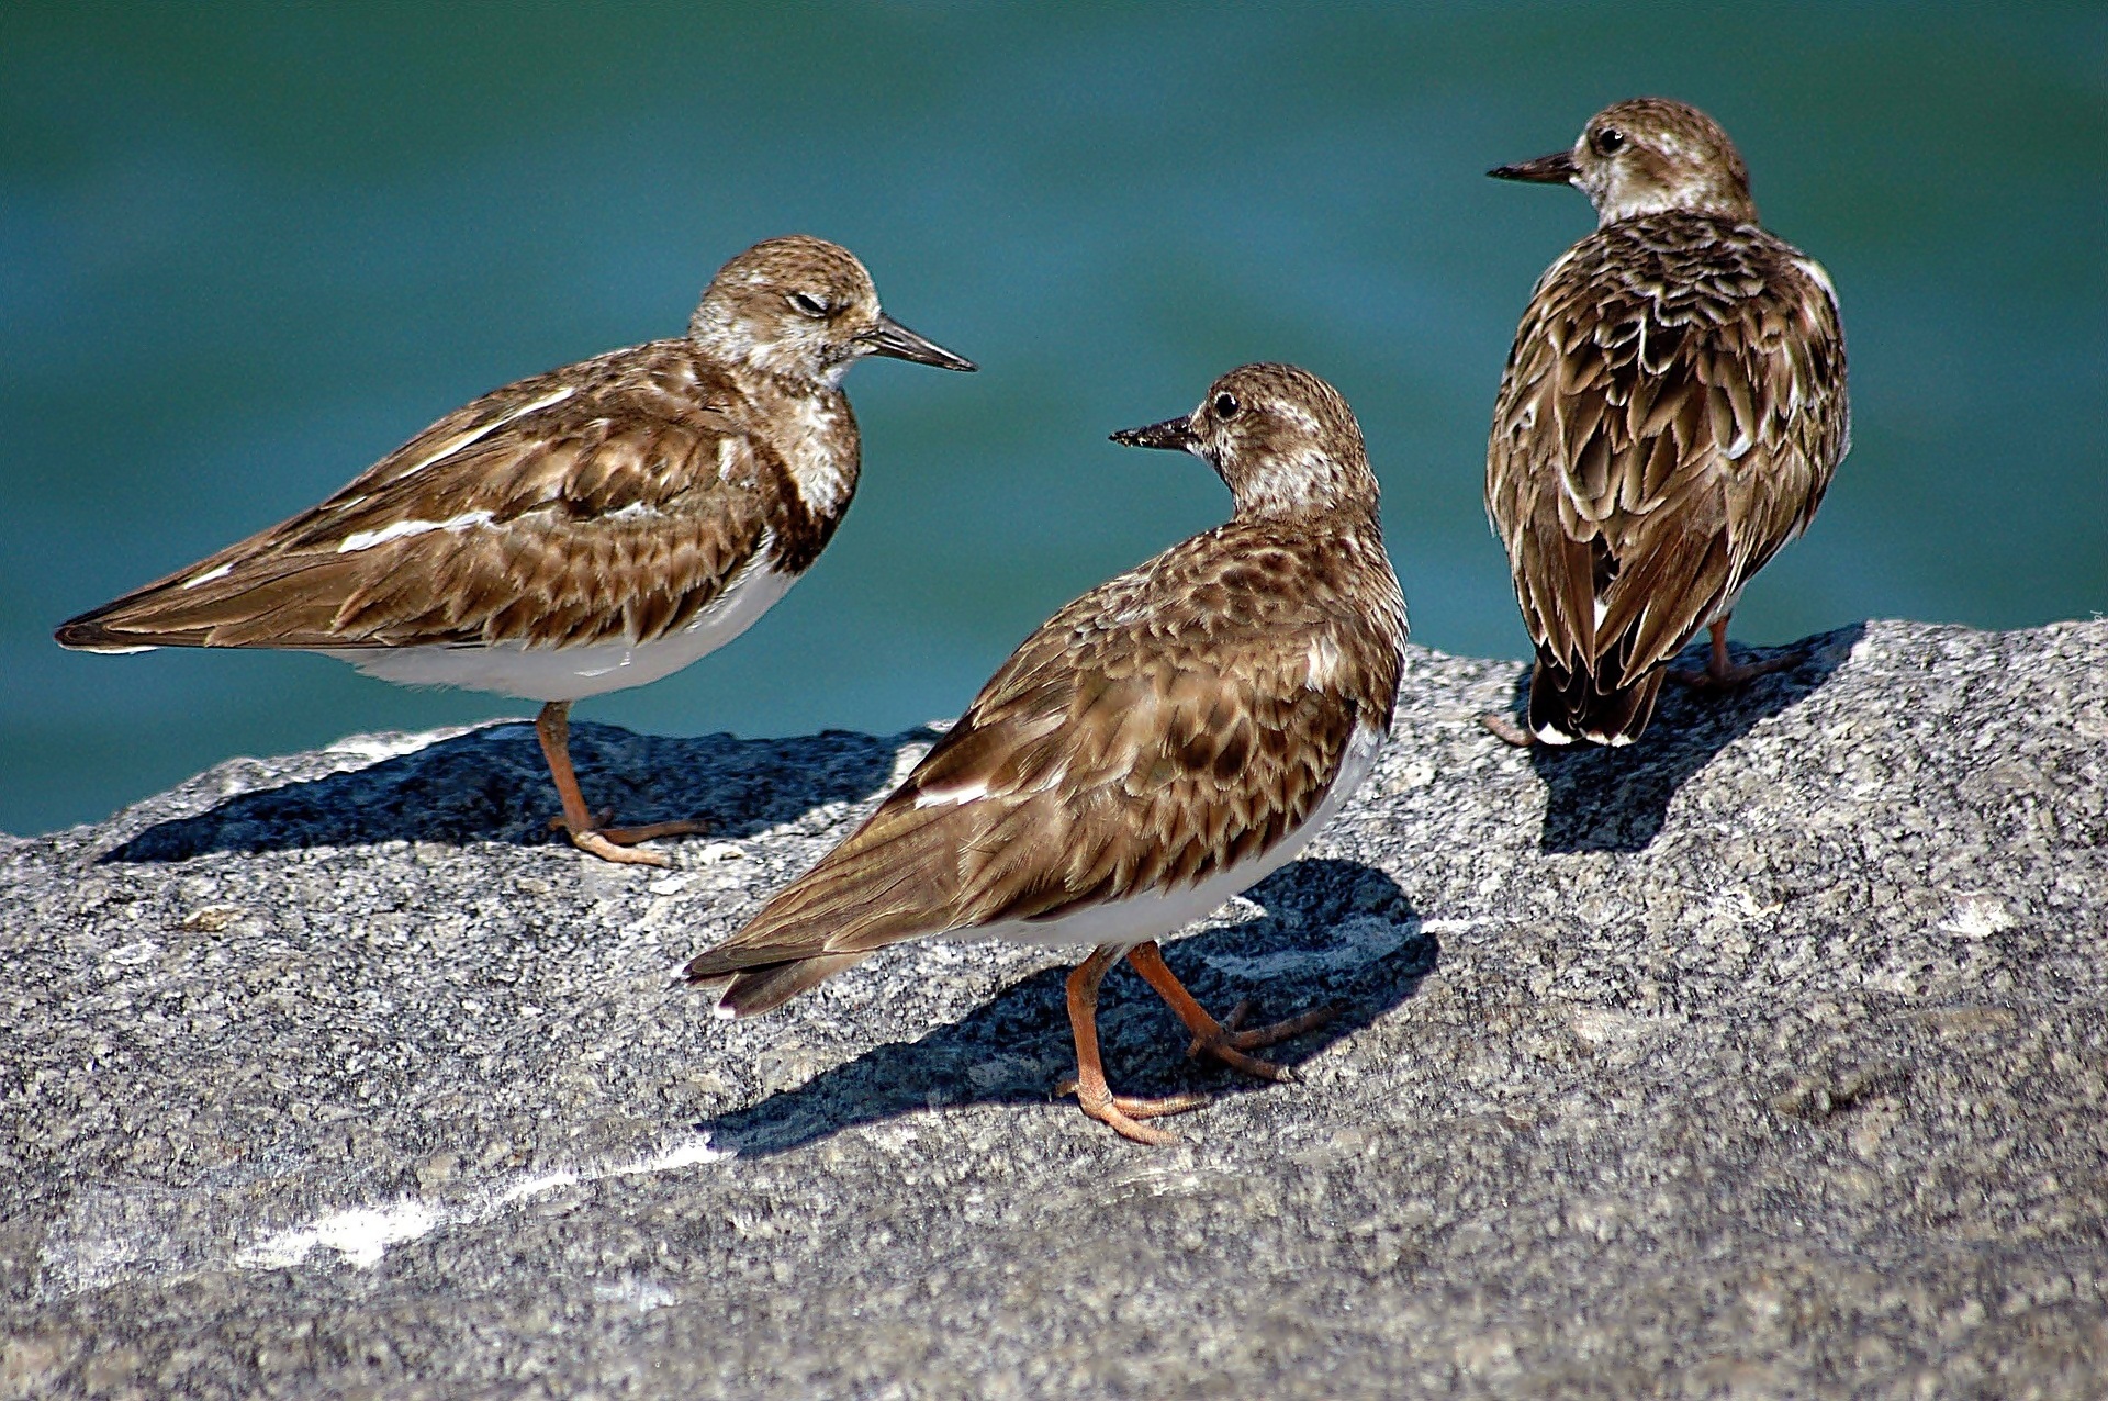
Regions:
<instances>
[{"instance_id":1,"label":"mottled head of the right-facing bird with eye nearly closed","mask_svg":"<svg viewBox=\"0 0 2108 1401\"><path fill-rule=\"evenodd\" d=\"M729 364L828 388L864 356L974 369L887 316L856 255L809 234L757 242L719 268L687 335Z\"/></svg>"}]
</instances>

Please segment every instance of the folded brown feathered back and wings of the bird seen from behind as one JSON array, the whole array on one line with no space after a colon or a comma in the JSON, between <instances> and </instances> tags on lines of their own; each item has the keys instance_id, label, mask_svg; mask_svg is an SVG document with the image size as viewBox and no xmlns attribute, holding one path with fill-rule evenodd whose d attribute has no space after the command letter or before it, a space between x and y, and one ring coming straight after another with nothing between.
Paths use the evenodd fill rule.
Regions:
<instances>
[{"instance_id":1,"label":"folded brown feathered back and wings of the bird seen from behind","mask_svg":"<svg viewBox=\"0 0 2108 1401\"><path fill-rule=\"evenodd\" d=\"M1530 636L1638 680L1807 529L1847 442L1819 265L1701 215L1581 240L1537 284L1486 451Z\"/></svg>"}]
</instances>

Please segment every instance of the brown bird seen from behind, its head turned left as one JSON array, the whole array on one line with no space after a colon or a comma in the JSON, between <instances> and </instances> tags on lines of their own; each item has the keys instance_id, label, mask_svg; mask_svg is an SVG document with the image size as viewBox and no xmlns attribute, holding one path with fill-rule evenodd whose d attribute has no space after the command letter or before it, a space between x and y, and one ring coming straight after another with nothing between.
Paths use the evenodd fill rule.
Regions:
<instances>
[{"instance_id":1,"label":"brown bird seen from behind, its head turned left","mask_svg":"<svg viewBox=\"0 0 2108 1401\"><path fill-rule=\"evenodd\" d=\"M1604 107L1568 152L1488 171L1570 183L1598 228L1537 280L1486 442L1486 514L1537 645L1528 744L1627 744L1667 662L1807 529L1851 445L1821 265L1756 223L1726 133L1684 103Z\"/></svg>"}]
</instances>

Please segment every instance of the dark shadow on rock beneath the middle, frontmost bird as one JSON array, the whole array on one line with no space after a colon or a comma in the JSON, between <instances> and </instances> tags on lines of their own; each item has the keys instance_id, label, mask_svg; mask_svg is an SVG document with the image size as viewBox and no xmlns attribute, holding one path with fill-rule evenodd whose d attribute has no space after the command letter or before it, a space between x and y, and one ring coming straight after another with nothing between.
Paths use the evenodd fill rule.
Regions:
<instances>
[{"instance_id":1,"label":"dark shadow on rock beneath the middle, frontmost bird","mask_svg":"<svg viewBox=\"0 0 2108 1401\"><path fill-rule=\"evenodd\" d=\"M1330 1005L1330 1022L1261 1051L1282 1066L1307 1062L1412 997L1440 956L1404 891L1372 866L1303 860L1246 895L1265 910L1261 919L1166 944L1164 959L1216 1015L1244 997L1256 1003L1252 1024ZM919 1041L873 1047L696 1127L713 1146L772 1155L938 1106L1046 1104L1054 1085L1075 1072L1067 975L1035 973ZM1098 1030L1115 1093L1273 1089L1189 1060L1185 1026L1126 963L1105 980Z\"/></svg>"}]
</instances>

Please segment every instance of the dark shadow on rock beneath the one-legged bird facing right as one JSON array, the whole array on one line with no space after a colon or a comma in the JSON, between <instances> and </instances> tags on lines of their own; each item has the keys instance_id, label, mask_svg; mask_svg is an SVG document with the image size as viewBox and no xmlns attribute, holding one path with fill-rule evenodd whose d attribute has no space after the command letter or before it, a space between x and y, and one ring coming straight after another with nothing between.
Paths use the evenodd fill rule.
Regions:
<instances>
[{"instance_id":1,"label":"dark shadow on rock beneath the one-legged bird facing right","mask_svg":"<svg viewBox=\"0 0 2108 1401\"><path fill-rule=\"evenodd\" d=\"M826 803L856 803L885 786L904 744L824 731L795 739L689 739L575 725L571 758L592 807L620 824L700 817L710 838L750 836ZM533 725L472 729L360 769L240 792L192 817L156 822L97 857L186 862L209 851L297 851L384 841L563 843L548 820L557 786ZM700 841L700 838L687 838ZM677 851L675 843L658 843Z\"/></svg>"}]
</instances>

